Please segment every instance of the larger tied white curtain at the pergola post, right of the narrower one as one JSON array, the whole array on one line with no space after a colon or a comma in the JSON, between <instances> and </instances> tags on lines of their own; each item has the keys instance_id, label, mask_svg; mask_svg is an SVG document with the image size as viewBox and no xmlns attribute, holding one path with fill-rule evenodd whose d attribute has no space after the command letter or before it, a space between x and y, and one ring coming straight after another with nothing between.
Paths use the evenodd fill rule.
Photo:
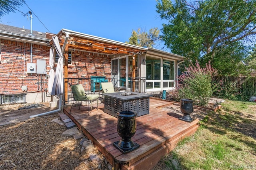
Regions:
<instances>
[{"instance_id":1,"label":"larger tied white curtain at the pergola post, right of the narrower one","mask_svg":"<svg viewBox=\"0 0 256 170\"><path fill-rule=\"evenodd\" d=\"M56 53L59 55L54 83L52 86L52 95L63 94L63 54L61 52L60 43L57 36L52 37Z\"/></svg>"}]
</instances>

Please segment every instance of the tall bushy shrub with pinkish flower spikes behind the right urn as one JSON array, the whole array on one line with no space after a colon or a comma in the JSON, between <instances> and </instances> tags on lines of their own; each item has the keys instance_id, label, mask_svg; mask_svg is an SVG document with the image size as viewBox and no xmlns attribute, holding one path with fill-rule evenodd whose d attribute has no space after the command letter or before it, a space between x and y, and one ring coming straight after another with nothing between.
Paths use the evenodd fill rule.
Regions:
<instances>
[{"instance_id":1,"label":"tall bushy shrub with pinkish flower spikes behind the right urn","mask_svg":"<svg viewBox=\"0 0 256 170\"><path fill-rule=\"evenodd\" d=\"M199 63L190 64L185 68L188 74L182 74L178 77L181 81L178 91L181 98L193 99L195 105L205 106L216 85L212 85L212 74L215 70L210 63L205 68L201 68Z\"/></svg>"}]
</instances>

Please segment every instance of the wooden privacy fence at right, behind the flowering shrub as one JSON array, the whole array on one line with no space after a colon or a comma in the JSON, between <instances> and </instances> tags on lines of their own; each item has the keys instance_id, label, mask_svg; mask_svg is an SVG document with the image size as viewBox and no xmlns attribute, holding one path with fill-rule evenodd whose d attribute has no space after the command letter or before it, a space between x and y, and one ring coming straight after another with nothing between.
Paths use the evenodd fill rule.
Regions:
<instances>
[{"instance_id":1,"label":"wooden privacy fence at right, behind the flowering shrub","mask_svg":"<svg viewBox=\"0 0 256 170\"><path fill-rule=\"evenodd\" d=\"M240 98L248 100L256 96L256 77L224 77L214 76L212 83L219 88L214 92L215 96L227 98Z\"/></svg>"}]
</instances>

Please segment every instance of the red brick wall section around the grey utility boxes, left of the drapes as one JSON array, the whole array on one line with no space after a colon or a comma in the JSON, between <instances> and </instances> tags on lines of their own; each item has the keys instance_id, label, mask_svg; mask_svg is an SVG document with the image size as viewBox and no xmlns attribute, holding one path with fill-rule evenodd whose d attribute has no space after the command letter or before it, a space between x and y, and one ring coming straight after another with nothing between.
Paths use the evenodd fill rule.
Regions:
<instances>
[{"instance_id":1,"label":"red brick wall section around the grey utility boxes, left of the drapes","mask_svg":"<svg viewBox=\"0 0 256 170\"><path fill-rule=\"evenodd\" d=\"M40 59L46 60L46 65L49 65L49 47L33 44L32 53L33 63ZM38 89L40 75L38 77L37 74L28 75L26 73L26 65L30 62L30 43L1 40L0 93L23 93L22 85L27 86L29 93L40 91ZM47 67L46 71L49 72L49 70L50 68ZM44 82L45 79L45 75L42 75ZM47 88L46 83L42 83L42 86L42 89Z\"/></svg>"}]
</instances>

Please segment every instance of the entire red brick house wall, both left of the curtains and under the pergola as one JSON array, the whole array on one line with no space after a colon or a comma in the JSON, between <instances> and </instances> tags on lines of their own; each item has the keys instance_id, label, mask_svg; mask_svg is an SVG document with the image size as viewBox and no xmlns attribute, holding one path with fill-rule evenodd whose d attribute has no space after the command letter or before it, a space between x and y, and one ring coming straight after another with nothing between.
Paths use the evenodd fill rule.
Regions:
<instances>
[{"instance_id":1,"label":"entire red brick house wall, both left of the curtains and under the pergola","mask_svg":"<svg viewBox=\"0 0 256 170\"><path fill-rule=\"evenodd\" d=\"M46 60L46 73L49 73L49 49L44 45L33 44L33 63L38 59ZM26 56L25 56L26 55ZM24 65L24 58L26 64ZM23 93L21 86L28 87L28 93L48 88L46 76L27 74L27 63L30 63L30 43L1 40L0 94ZM90 78L90 76L111 75L111 59L108 55L98 55L82 51L72 51L72 64L68 65L69 78ZM25 71L24 71L25 66ZM56 65L54 69L56 68ZM39 86L38 86L39 82ZM39 87L39 89L38 89Z\"/></svg>"}]
</instances>

